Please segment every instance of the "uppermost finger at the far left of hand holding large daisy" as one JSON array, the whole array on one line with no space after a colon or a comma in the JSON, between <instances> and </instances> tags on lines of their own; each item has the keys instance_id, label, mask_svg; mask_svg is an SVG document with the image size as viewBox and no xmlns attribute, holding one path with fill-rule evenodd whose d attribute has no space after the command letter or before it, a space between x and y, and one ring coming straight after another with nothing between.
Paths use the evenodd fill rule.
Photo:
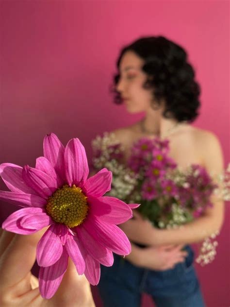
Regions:
<instances>
[{"instance_id":1,"label":"uppermost finger at the far left of hand holding large daisy","mask_svg":"<svg viewBox=\"0 0 230 307\"><path fill-rule=\"evenodd\" d=\"M45 230L33 235L14 236L0 258L0 286L13 286L30 272L36 257L36 245Z\"/></svg>"}]
</instances>

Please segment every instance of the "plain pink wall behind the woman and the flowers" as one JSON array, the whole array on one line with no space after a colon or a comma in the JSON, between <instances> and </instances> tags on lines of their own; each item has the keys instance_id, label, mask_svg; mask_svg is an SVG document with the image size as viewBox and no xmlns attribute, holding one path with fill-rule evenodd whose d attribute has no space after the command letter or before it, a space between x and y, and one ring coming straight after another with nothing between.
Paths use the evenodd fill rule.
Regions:
<instances>
[{"instance_id":1,"label":"plain pink wall behind the woman and the flowers","mask_svg":"<svg viewBox=\"0 0 230 307\"><path fill-rule=\"evenodd\" d=\"M34 166L50 132L79 137L90 159L96 134L139 119L112 103L109 85L120 48L158 34L188 51L202 87L195 125L230 161L229 1L1 0L0 14L0 163ZM1 221L13 210L1 205ZM208 307L230 306L229 218L228 204L216 260L197 266Z\"/></svg>"}]
</instances>

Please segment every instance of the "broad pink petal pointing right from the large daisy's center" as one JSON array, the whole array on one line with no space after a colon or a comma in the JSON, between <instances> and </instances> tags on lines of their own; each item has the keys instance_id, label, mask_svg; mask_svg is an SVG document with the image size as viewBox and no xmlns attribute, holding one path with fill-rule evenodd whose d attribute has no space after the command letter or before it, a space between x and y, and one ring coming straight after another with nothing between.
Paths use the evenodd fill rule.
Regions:
<instances>
[{"instance_id":1,"label":"broad pink petal pointing right from the large daisy's center","mask_svg":"<svg viewBox=\"0 0 230 307\"><path fill-rule=\"evenodd\" d=\"M89 196L87 202L90 205L90 212L99 217L100 221L121 224L132 217L132 210L129 205L118 198L110 196L96 198Z\"/></svg>"}]
</instances>

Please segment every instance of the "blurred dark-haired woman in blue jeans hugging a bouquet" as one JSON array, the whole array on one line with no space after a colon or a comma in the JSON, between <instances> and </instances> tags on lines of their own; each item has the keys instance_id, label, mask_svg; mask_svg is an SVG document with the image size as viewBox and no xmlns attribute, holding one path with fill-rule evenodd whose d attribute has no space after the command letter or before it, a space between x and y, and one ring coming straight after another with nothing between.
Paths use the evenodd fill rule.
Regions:
<instances>
[{"instance_id":1,"label":"blurred dark-haired woman in blue jeans hugging a bouquet","mask_svg":"<svg viewBox=\"0 0 230 307\"><path fill-rule=\"evenodd\" d=\"M113 131L125 148L124 162L135 141L160 137L169 140L169 155L182 169L199 164L214 176L223 170L218 138L191 125L198 116L200 87L181 46L163 36L140 38L121 50L117 70L115 102L124 103L129 113L145 112L140 121ZM156 229L137 213L120 225L132 241L132 252L125 259L115 255L112 267L102 266L104 306L139 307L143 292L157 307L205 306L189 244L220 230L223 203L214 197L212 202L212 208L182 229Z\"/></svg>"}]
</instances>

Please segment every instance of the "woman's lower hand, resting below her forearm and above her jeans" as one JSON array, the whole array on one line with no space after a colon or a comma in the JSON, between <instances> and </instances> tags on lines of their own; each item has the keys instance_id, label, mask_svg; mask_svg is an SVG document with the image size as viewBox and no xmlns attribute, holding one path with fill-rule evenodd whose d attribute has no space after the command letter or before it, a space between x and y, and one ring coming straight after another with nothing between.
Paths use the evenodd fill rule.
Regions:
<instances>
[{"instance_id":1,"label":"woman's lower hand, resting below her forearm and above her jeans","mask_svg":"<svg viewBox=\"0 0 230 307\"><path fill-rule=\"evenodd\" d=\"M133 257L130 261L136 266L155 271L173 269L177 263L183 262L187 256L187 252L181 251L182 247L183 245L146 248L134 246L136 257Z\"/></svg>"}]
</instances>

